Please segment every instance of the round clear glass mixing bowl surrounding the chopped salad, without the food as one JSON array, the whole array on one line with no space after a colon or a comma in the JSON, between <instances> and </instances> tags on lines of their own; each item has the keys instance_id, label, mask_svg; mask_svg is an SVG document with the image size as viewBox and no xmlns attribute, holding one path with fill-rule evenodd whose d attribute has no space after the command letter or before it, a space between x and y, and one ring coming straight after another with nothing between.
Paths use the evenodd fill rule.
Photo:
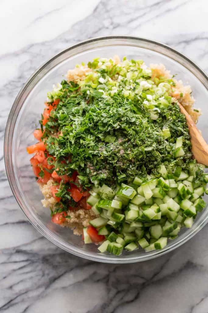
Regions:
<instances>
[{"instance_id":1,"label":"round clear glass mixing bowl surrounding the chopped salad, without the food","mask_svg":"<svg viewBox=\"0 0 208 313\"><path fill-rule=\"evenodd\" d=\"M94 244L84 244L81 236L75 236L69 228L62 228L51 223L50 210L43 208L43 198L36 184L31 166L31 156L26 147L34 141L33 131L38 125L46 100L46 93L52 85L60 82L68 69L73 69L77 63L88 63L96 57L113 57L143 59L146 64L162 63L177 74L177 79L191 85L196 99L196 107L201 107L203 115L198 127L205 140L208 140L208 77L192 61L179 52L157 42L136 37L104 37L95 38L77 44L36 70L27 80L17 95L8 117L4 152L7 176L14 196L22 211L33 226L47 239L60 248L80 257L105 263L133 263L155 258L176 249L193 237L208 221L208 210L199 213L193 227L183 228L175 240L170 240L163 250L145 253L138 249L132 252L124 251L120 256L100 254ZM208 196L205 197L206 201Z\"/></svg>"}]
</instances>

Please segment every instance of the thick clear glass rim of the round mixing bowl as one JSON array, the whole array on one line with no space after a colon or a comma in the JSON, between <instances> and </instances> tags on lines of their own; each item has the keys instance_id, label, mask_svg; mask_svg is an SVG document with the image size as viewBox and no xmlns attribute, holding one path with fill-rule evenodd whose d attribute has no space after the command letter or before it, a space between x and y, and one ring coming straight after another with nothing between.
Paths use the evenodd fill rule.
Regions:
<instances>
[{"instance_id":1,"label":"thick clear glass rim of the round mixing bowl","mask_svg":"<svg viewBox=\"0 0 208 313\"><path fill-rule=\"evenodd\" d=\"M69 52L70 50L76 49L76 48L81 47L81 46L87 46L88 44L90 45L92 43L99 44L99 43L102 43L102 41L104 41L106 39L109 39L112 41L111 44L109 44L109 46L116 45L116 43L113 42L113 40L119 40L119 39L120 40L132 40L132 44L131 44L132 46L134 46L133 42L137 41L138 47L143 47L141 44L139 45L139 42L143 43L143 44L150 44L150 48L145 46L145 49L150 49L150 50L159 52L161 54L164 54L164 55L168 56L169 58L177 61L181 65L185 66L195 76L197 74L196 77L201 81L201 83L208 90L208 76L205 74L205 72L202 69L200 69L193 61L188 59L186 56L184 56L183 54L181 54L177 50L172 49L171 47L169 47L165 44L162 44L162 43L150 40L150 39L140 38L140 37L135 37L135 36L106 36L106 37L91 38L89 40L82 41L79 44L73 45L73 46L69 47L68 49L61 51L59 54L56 54L53 58L51 58L49 61L44 63L42 66L40 66L31 75L31 77L26 81L26 83L23 85L22 89L18 93L18 95L17 95L17 97L16 97L16 99L12 105L12 108L10 110L8 120L7 120L5 137L4 137L4 161L5 161L7 178L8 178L10 187L12 189L13 195L16 198L17 203L19 204L20 208L22 209L23 213L26 215L28 220L31 222L31 224L44 237L46 237L52 243L56 244L58 247L64 249L65 251L70 252L74 255L80 256L80 257L85 258L85 259L89 259L89 260L93 260L93 261L97 261L97 262L103 262L103 263L116 263L116 264L135 263L135 262L141 262L141 261L156 258L156 257L163 255L163 254L166 254L166 253L176 249L177 247L181 246L182 244L184 244L186 241L191 239L196 233L198 233L206 225L206 223L208 222L208 214L206 215L204 220L202 220L201 223L195 229L193 229L189 234L187 234L185 237L183 237L177 243L174 243L174 241L173 241L173 244L170 247L166 247L165 249L155 250L155 251L152 251L151 253L144 254L144 255L138 255L138 256L129 255L129 258L126 258L126 257L123 258L122 255L119 257L115 256L114 258L109 258L108 256L102 255L102 254L94 255L94 254L91 254L89 252L85 252L81 248L76 248L73 245L65 244L64 242L61 242L59 239L57 239L55 236L53 236L52 233L49 233L48 229L41 223L41 221L33 218L33 216L30 213L30 210L27 208L23 199L20 196L20 193L19 193L19 190L17 187L17 183L15 181L14 169L12 166L12 137L13 137L13 133L14 133L15 122L17 121L18 114L19 114L19 112L22 108L22 105L24 103L24 101L22 101L22 103L20 103L20 100L25 99L27 97L27 94L28 94L27 89L31 85L32 81L37 77L37 75L39 75L39 74L41 74L41 72L43 72L43 69L45 69L48 65L50 65L55 60L59 59L59 57L61 55L65 54L66 52ZM122 44L125 44L125 42L123 41ZM161 51L154 49L156 47L160 48ZM87 49L85 49L85 51L87 51ZM61 60L61 62L62 61L63 60ZM54 66L58 65L59 63L60 62L57 62ZM50 69L51 68L49 68L48 71ZM45 74L40 76L38 81Z\"/></svg>"}]
</instances>

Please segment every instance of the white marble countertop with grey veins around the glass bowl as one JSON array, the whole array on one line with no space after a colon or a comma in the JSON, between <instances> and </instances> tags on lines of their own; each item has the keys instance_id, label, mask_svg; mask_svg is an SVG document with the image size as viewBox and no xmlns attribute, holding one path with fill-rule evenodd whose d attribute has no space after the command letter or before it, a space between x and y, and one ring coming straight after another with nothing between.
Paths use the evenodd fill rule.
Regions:
<instances>
[{"instance_id":1,"label":"white marble countertop with grey veins around the glass bowl","mask_svg":"<svg viewBox=\"0 0 208 313\"><path fill-rule=\"evenodd\" d=\"M99 264L64 252L26 220L9 187L3 137L18 91L62 49L106 35L168 44L208 72L206 0L0 2L0 311L5 313L207 313L208 225L148 262Z\"/></svg>"}]
</instances>

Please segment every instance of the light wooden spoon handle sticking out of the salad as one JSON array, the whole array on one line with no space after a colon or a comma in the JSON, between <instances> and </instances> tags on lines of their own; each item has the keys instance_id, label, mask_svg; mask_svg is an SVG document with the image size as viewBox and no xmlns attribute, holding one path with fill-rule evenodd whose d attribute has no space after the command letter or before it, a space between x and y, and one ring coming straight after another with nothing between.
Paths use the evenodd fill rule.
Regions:
<instances>
[{"instance_id":1,"label":"light wooden spoon handle sticking out of the salad","mask_svg":"<svg viewBox=\"0 0 208 313\"><path fill-rule=\"evenodd\" d=\"M204 138L201 136L196 124L192 120L191 116L186 112L184 107L178 103L181 113L186 117L186 122L188 125L189 133L191 136L191 152L197 163L204 164L208 166L208 145Z\"/></svg>"}]
</instances>

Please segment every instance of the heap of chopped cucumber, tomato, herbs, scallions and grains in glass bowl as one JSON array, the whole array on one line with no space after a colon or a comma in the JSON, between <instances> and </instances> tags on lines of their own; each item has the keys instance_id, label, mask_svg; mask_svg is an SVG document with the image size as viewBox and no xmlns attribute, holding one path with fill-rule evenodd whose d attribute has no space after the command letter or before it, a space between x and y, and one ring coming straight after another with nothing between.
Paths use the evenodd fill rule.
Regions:
<instances>
[{"instance_id":1,"label":"heap of chopped cucumber, tomato, herbs, scallions and grains in glass bowl","mask_svg":"<svg viewBox=\"0 0 208 313\"><path fill-rule=\"evenodd\" d=\"M27 147L52 222L115 255L163 249L191 228L208 175L178 102L197 122L190 86L161 64L115 56L69 70Z\"/></svg>"}]
</instances>

